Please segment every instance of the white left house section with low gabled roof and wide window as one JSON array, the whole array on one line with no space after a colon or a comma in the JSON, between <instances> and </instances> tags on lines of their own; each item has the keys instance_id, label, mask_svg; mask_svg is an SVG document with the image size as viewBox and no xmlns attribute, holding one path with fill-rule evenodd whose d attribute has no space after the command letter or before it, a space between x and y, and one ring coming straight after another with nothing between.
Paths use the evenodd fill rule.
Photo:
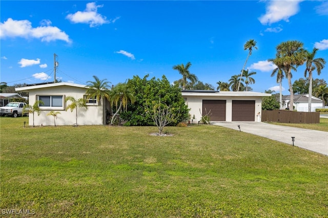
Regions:
<instances>
[{"instance_id":1,"label":"white left house section with low gabled roof and wide window","mask_svg":"<svg viewBox=\"0 0 328 218\"><path fill-rule=\"evenodd\" d=\"M50 111L60 112L57 115L57 125L75 124L75 110L66 111L67 105L71 102L65 102L65 97L73 96L75 99L85 98L87 101L87 109L85 107L77 108L77 124L78 125L103 125L107 123L107 115L110 112L110 103L107 99L87 99L86 85L75 83L58 82L47 84L36 84L16 88L16 91L25 91L29 93L29 104L33 105L35 101L42 100L45 104L39 105L40 116L34 116L35 125L53 125L53 117L47 116ZM33 123L32 116L29 117L30 125Z\"/></svg>"}]
</instances>

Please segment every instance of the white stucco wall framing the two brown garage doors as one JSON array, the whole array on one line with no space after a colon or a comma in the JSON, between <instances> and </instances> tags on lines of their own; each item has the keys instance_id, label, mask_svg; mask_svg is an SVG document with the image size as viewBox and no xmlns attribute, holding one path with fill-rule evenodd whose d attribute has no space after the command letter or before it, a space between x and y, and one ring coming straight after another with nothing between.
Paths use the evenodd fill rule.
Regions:
<instances>
[{"instance_id":1,"label":"white stucco wall framing the two brown garage doors","mask_svg":"<svg viewBox=\"0 0 328 218\"><path fill-rule=\"evenodd\" d=\"M221 92L223 93L223 92ZM235 94L236 92L234 92ZM244 93L243 93L244 94ZM191 115L191 119L193 115L195 115L195 119L193 122L197 123L199 120L201 120L201 114L199 112L202 112L202 100L226 100L226 121L232 122L232 101L233 100L254 100L255 101L255 114L254 114L254 121L261 121L261 119L257 115L261 116L262 111L262 96L229 96L229 95L217 95L217 96L192 96L192 95L186 95L182 94L183 98L186 100L186 104L191 109L189 114Z\"/></svg>"}]
</instances>

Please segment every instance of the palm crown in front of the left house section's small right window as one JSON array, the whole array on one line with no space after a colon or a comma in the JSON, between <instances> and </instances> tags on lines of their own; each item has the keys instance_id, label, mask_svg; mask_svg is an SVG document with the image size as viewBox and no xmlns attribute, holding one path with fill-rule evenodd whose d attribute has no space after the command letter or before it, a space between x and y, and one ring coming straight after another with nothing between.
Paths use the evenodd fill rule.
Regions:
<instances>
[{"instance_id":1,"label":"palm crown in front of the left house section's small right window","mask_svg":"<svg viewBox=\"0 0 328 218\"><path fill-rule=\"evenodd\" d=\"M86 94L88 98L96 99L97 103L100 102L101 98L107 98L107 100L109 100L110 82L107 81L107 79L100 80L96 76L93 76L93 78L95 81L87 82L88 90Z\"/></svg>"}]
</instances>

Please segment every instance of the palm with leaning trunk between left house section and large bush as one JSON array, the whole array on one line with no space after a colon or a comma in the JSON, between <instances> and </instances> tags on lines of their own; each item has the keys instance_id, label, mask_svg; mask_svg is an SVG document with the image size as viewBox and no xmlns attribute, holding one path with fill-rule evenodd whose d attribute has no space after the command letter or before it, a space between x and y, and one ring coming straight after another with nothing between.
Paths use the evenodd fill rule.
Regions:
<instances>
[{"instance_id":1,"label":"palm with leaning trunk between left house section and large bush","mask_svg":"<svg viewBox=\"0 0 328 218\"><path fill-rule=\"evenodd\" d=\"M123 111L127 111L129 101L131 103L134 103L135 97L133 96L133 91L130 88L129 82L118 83L117 85L115 85L110 93L110 96L111 96L110 100L112 102L112 106L114 103L116 105L116 112L111 120L111 125L112 125L116 117L119 115L120 111L122 110L122 107L123 107ZM119 102L119 106L117 108L118 102Z\"/></svg>"}]
</instances>

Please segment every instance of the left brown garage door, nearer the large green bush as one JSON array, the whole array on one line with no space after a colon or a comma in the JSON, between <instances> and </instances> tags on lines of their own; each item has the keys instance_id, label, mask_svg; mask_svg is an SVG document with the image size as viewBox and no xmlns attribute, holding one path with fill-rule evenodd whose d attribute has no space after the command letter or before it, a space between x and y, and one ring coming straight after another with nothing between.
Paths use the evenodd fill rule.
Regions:
<instances>
[{"instance_id":1,"label":"left brown garage door, nearer the large green bush","mask_svg":"<svg viewBox=\"0 0 328 218\"><path fill-rule=\"evenodd\" d=\"M203 115L210 110L210 121L226 121L226 100L203 100Z\"/></svg>"}]
</instances>

